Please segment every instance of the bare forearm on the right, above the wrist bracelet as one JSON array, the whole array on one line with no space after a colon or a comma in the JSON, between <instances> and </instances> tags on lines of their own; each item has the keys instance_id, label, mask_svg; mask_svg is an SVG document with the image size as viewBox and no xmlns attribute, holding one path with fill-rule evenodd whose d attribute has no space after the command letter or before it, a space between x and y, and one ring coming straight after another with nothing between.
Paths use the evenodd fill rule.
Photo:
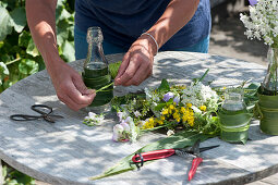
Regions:
<instances>
[{"instance_id":1,"label":"bare forearm on the right, above the wrist bracelet","mask_svg":"<svg viewBox=\"0 0 278 185\"><path fill-rule=\"evenodd\" d=\"M200 0L172 0L156 24L147 33L152 34L160 48L194 15Z\"/></svg>"}]
</instances>

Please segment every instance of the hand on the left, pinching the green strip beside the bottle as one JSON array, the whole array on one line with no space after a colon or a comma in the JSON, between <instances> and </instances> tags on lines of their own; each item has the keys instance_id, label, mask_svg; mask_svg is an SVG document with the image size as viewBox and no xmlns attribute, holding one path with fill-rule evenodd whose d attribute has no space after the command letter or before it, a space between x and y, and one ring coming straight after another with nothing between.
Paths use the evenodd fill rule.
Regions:
<instances>
[{"instance_id":1,"label":"hand on the left, pinching the green strip beside the bottle","mask_svg":"<svg viewBox=\"0 0 278 185\"><path fill-rule=\"evenodd\" d=\"M77 111L94 100L96 92L87 89L81 75L61 59L56 66L48 67L58 98L70 109Z\"/></svg>"}]
</instances>

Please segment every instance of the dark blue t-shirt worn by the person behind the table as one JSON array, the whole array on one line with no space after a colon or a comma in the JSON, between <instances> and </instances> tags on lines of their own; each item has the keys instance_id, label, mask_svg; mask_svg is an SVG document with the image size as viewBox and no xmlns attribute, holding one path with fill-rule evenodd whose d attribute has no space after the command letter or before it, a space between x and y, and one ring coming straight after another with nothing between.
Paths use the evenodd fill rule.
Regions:
<instances>
[{"instance_id":1,"label":"dark blue t-shirt worn by the person behind the table","mask_svg":"<svg viewBox=\"0 0 278 185\"><path fill-rule=\"evenodd\" d=\"M130 46L162 15L170 0L75 0L75 26L84 33L101 27L104 38L119 47ZM191 47L210 32L209 0L200 0L191 21L160 50Z\"/></svg>"}]
</instances>

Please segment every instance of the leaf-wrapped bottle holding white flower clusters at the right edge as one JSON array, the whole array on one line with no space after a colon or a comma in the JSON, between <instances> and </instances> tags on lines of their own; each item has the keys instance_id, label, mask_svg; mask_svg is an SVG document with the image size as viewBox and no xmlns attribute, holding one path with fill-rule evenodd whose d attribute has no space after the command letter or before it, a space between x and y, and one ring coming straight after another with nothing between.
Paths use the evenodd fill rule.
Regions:
<instances>
[{"instance_id":1,"label":"leaf-wrapped bottle holding white flower clusters at the right edge","mask_svg":"<svg viewBox=\"0 0 278 185\"><path fill-rule=\"evenodd\" d=\"M250 15L240 15L250 39L264 40L269 46L268 70L258 89L257 118L261 130L278 135L278 0L250 0Z\"/></svg>"}]
</instances>

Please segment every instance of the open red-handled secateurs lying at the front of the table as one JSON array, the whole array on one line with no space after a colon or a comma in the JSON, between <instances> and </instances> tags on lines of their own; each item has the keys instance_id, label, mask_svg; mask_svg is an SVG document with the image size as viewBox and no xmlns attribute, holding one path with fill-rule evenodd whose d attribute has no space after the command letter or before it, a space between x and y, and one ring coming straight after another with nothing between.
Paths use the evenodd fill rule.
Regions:
<instances>
[{"instance_id":1,"label":"open red-handled secateurs lying at the front of the table","mask_svg":"<svg viewBox=\"0 0 278 185\"><path fill-rule=\"evenodd\" d=\"M200 148L200 143L201 143L201 139L196 140L192 147L161 149L161 150L136 153L132 158L132 161L136 164L141 163L141 166L142 166L145 161L168 158L172 155L178 155L181 157L193 157L194 159L192 161L192 166L189 172L189 181L191 181L194 174L196 173L198 164L203 161L203 158L200 157L200 152L206 151L219 146L219 145L215 145L215 146Z\"/></svg>"}]
</instances>

